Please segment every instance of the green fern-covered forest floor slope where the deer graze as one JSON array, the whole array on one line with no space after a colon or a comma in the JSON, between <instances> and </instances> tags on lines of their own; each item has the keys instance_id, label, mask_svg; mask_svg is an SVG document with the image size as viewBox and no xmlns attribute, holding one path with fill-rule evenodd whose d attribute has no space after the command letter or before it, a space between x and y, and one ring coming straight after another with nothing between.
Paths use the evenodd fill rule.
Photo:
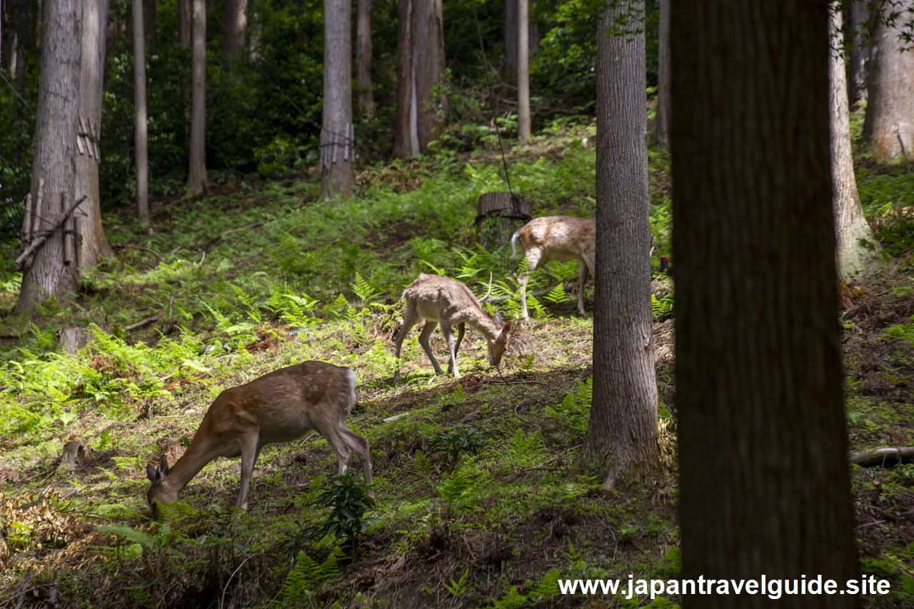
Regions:
<instances>
[{"instance_id":1,"label":"green fern-covered forest floor slope where the deer graze","mask_svg":"<svg viewBox=\"0 0 914 609\"><path fill-rule=\"evenodd\" d=\"M512 184L535 215L592 215L593 134L592 123L555 123L510 153ZM552 289L576 281L575 263L537 273L531 289L550 292L515 327L500 371L470 331L462 378L436 376L414 331L405 381L392 382L399 294L419 272L459 277L476 294L491 272L506 296L498 310L518 311L517 261L474 245L476 198L505 189L491 145L369 167L345 204L319 203L316 176L302 172L164 194L153 235L114 212L116 258L32 320L12 313L16 275L0 276L0 605L675 606L675 595L558 593L558 579L678 573L672 297L654 308L669 465L654 484L607 492L577 465L592 302L589 288L580 317L575 295ZM654 265L669 252L668 163L651 151ZM882 226L914 182L907 169L860 164L868 216ZM914 260L892 249L899 234L880 232L887 262L843 294L853 454L914 445ZM63 353L65 326L93 339ZM431 344L443 362L439 333ZM306 359L358 377L349 422L371 445L377 493L358 552L335 550L342 541L321 529L335 456L319 436L263 451L247 512L228 508L238 460L217 460L152 522L145 466L160 454L174 463L221 390ZM68 468L71 442L88 450ZM853 465L852 480L861 570L892 582L866 604L911 606L914 465Z\"/></svg>"}]
</instances>

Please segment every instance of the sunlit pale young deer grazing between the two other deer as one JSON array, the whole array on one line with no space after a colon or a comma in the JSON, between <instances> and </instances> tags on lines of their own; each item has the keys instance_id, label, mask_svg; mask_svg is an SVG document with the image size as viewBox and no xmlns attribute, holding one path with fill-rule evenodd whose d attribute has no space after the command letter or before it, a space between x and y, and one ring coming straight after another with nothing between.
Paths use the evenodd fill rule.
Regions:
<instances>
[{"instance_id":1,"label":"sunlit pale young deer grazing between the two other deer","mask_svg":"<svg viewBox=\"0 0 914 609\"><path fill-rule=\"evenodd\" d=\"M479 301L476 300L476 296L463 283L441 275L422 273L403 291L403 298L406 299L406 313L403 315L403 326L400 327L397 346L394 349L394 357L398 361L398 369L394 372L394 382L399 382L399 351L403 345L403 339L409 334L412 326L419 323L420 319L425 320L425 326L422 327L422 333L419 335L419 344L425 349L425 354L429 356L431 365L437 374L443 373L441 366L438 365L438 360L431 352L429 337L435 326L439 324L441 324L441 333L447 338L451 355L448 372L452 372L455 379L460 379L460 372L457 371L457 351L460 349L463 332L468 324L482 332L489 343L489 362L493 366L501 363L507 346L508 333L511 331L511 322L502 326L501 315L495 315L494 320L486 315L479 305ZM456 344L452 332L453 326L457 326Z\"/></svg>"}]
</instances>

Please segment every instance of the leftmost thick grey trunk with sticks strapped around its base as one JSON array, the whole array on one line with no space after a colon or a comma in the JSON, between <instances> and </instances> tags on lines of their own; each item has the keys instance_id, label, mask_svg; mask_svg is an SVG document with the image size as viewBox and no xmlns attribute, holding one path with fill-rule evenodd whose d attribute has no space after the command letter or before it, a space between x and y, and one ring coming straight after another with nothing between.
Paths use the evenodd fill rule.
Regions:
<instances>
[{"instance_id":1,"label":"leftmost thick grey trunk with sticks strapped around its base","mask_svg":"<svg viewBox=\"0 0 914 609\"><path fill-rule=\"evenodd\" d=\"M51 229L53 219L74 200L73 153L80 105L79 9L79 3L67 0L46 0L43 8L44 48L38 83L31 188L35 201L34 226L38 234ZM50 235L35 253L32 263L26 263L16 313L31 311L49 296L61 298L76 287L76 269L74 265L64 263L62 232Z\"/></svg>"}]
</instances>

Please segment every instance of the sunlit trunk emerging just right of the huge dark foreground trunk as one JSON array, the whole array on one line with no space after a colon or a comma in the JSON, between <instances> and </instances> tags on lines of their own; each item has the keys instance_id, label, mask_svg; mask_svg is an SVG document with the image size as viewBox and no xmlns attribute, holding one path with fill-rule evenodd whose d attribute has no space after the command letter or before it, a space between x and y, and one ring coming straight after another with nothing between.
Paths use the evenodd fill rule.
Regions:
<instances>
[{"instance_id":1,"label":"sunlit trunk emerging just right of the huge dark foreground trunk","mask_svg":"<svg viewBox=\"0 0 914 609\"><path fill-rule=\"evenodd\" d=\"M854 157L851 155L851 128L847 106L845 61L837 49L841 48L841 13L831 11L829 37L829 105L831 107L831 156L832 197L834 204L834 234L837 238L835 263L838 279L842 283L854 281L866 268L872 255L861 240L873 242L873 231L866 223L860 196L857 194L854 175Z\"/></svg>"}]
</instances>

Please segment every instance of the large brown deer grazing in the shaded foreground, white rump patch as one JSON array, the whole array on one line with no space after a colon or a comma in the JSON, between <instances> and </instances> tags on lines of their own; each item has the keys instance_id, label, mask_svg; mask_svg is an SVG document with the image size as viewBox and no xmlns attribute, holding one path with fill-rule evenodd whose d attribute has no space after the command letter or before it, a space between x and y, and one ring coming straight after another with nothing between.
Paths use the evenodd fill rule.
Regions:
<instances>
[{"instance_id":1,"label":"large brown deer grazing in the shaded foreground, white rump patch","mask_svg":"<svg viewBox=\"0 0 914 609\"><path fill-rule=\"evenodd\" d=\"M187 483L216 457L241 455L241 488L237 508L246 508L250 475L266 444L292 442L304 433L324 436L336 453L337 474L345 474L356 453L371 484L368 443L345 426L356 403L356 373L323 361L306 361L275 370L247 385L222 391L203 417L185 454L168 468L165 455L154 468L146 465L153 486L147 496L156 514L156 502L176 501ZM374 497L369 489L368 494Z\"/></svg>"}]
</instances>

